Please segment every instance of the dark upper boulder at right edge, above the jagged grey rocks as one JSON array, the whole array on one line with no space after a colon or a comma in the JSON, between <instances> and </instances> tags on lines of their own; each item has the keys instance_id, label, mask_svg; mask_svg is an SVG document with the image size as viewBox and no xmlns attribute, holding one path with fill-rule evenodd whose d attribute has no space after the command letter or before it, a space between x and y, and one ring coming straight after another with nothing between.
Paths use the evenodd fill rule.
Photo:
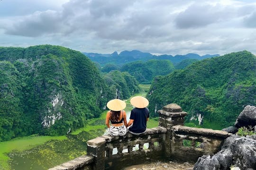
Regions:
<instances>
[{"instance_id":1,"label":"dark upper boulder at right edge, above the jagged grey rocks","mask_svg":"<svg viewBox=\"0 0 256 170\"><path fill-rule=\"evenodd\" d=\"M235 122L235 127L255 127L256 126L256 107L247 105L239 114Z\"/></svg>"}]
</instances>

